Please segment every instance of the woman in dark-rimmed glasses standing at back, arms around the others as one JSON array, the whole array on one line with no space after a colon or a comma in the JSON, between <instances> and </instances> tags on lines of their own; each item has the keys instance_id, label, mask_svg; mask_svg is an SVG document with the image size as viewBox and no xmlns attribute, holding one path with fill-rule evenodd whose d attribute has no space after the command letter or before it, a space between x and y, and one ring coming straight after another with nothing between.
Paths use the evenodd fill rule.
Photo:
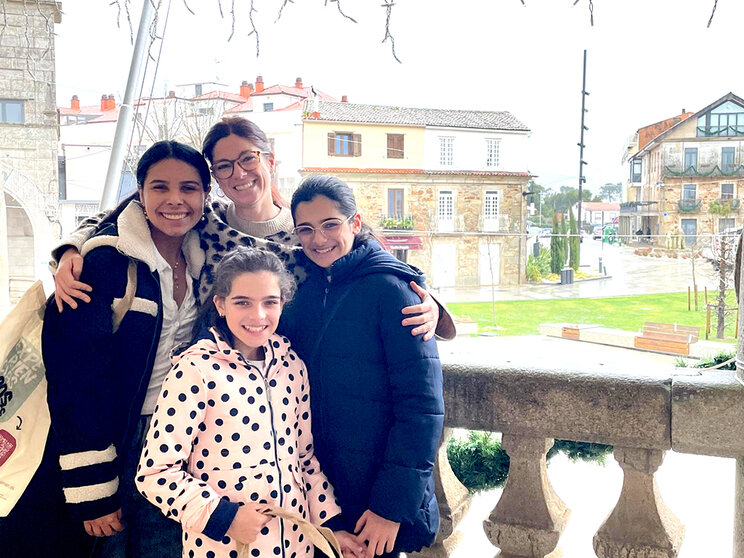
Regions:
<instances>
[{"instance_id":1,"label":"woman in dark-rimmed glasses standing at back, arms around the others","mask_svg":"<svg viewBox=\"0 0 744 558\"><path fill-rule=\"evenodd\" d=\"M298 282L305 279L307 260L291 234L293 223L286 203L279 196L272 180L274 155L266 134L253 122L244 118L223 118L209 130L203 143L204 155L212 165L212 175L229 202L213 200L205 212L201 230L206 264L200 277L199 298L204 302L214 280L214 266L238 245L256 246L274 252L285 267L294 273ZM84 225L95 226L100 217L89 219ZM83 226L65 242L64 248L77 248L87 238L92 227ZM60 257L61 250L55 254ZM88 302L88 285L80 282L82 258L70 249L61 257L55 273L55 298L62 311L63 302L75 308L75 298ZM426 291L412 285L421 301L403 310L409 317L403 325L414 325L413 335L424 334L428 339L440 319L440 307ZM419 304L422 302L422 304ZM454 337L454 324L444 310L437 333L444 338Z\"/></svg>"}]
</instances>

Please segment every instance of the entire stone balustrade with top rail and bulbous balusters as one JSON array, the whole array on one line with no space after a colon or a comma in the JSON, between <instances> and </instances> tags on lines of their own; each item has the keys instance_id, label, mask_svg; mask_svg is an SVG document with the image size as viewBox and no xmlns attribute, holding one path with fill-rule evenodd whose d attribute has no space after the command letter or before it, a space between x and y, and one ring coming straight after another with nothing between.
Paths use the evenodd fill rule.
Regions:
<instances>
[{"instance_id":1,"label":"entire stone balustrade with top rail and bulbous balusters","mask_svg":"<svg viewBox=\"0 0 744 558\"><path fill-rule=\"evenodd\" d=\"M570 511L546 474L554 438L611 444L623 469L620 498L594 536L600 558L677 556L684 527L655 481L666 450L737 458L734 556L744 558L744 385L734 372L508 368L465 355L443 362L446 428L435 470L442 524L434 546L415 556L444 558L461 538L469 495L452 474L446 442L452 428L467 428L501 432L511 460L483 524L502 558L561 555Z\"/></svg>"}]
</instances>

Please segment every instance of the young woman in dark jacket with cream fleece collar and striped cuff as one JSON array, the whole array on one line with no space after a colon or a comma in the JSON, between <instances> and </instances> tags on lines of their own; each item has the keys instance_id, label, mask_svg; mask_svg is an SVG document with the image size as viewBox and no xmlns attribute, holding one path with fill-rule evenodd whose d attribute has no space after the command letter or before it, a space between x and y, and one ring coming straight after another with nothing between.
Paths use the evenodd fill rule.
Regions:
<instances>
[{"instance_id":1,"label":"young woman in dark jacket with cream fleece collar and striped cuff","mask_svg":"<svg viewBox=\"0 0 744 558\"><path fill-rule=\"evenodd\" d=\"M198 151L154 144L137 166L136 197L82 245L81 280L95 296L74 312L47 308L42 349L65 499L89 535L105 537L103 556L181 555L178 525L139 496L134 473L171 349L191 336L204 264L192 229L209 184Z\"/></svg>"}]
</instances>

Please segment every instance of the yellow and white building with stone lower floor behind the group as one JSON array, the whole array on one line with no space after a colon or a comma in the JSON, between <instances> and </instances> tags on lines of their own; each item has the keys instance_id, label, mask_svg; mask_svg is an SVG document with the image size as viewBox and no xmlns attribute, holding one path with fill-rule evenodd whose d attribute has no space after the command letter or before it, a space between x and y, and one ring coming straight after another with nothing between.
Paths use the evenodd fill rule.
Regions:
<instances>
[{"instance_id":1,"label":"yellow and white building with stone lower floor behind the group","mask_svg":"<svg viewBox=\"0 0 744 558\"><path fill-rule=\"evenodd\" d=\"M437 288L524 280L529 129L508 112L308 102L303 176L338 176Z\"/></svg>"}]
</instances>

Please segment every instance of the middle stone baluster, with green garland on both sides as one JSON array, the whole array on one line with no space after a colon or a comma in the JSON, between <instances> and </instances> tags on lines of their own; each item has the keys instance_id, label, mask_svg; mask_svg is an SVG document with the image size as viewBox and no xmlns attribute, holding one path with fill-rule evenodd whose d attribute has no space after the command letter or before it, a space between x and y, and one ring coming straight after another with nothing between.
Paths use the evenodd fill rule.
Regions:
<instances>
[{"instance_id":1,"label":"middle stone baluster, with green garland on both sides","mask_svg":"<svg viewBox=\"0 0 744 558\"><path fill-rule=\"evenodd\" d=\"M559 556L558 539L570 510L553 491L546 458L553 446L549 438L504 434L502 447L509 455L509 477L496 507L483 528L499 558Z\"/></svg>"}]
</instances>

